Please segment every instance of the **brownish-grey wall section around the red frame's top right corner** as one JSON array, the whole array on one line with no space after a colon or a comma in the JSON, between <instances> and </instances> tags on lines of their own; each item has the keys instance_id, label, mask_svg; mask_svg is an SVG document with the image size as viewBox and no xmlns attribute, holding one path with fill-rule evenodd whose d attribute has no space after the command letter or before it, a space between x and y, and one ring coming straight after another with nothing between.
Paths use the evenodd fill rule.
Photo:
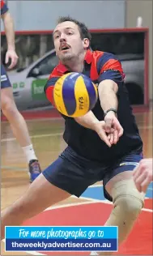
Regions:
<instances>
[{"instance_id":1,"label":"brownish-grey wall section around the red frame's top right corner","mask_svg":"<svg viewBox=\"0 0 153 256\"><path fill-rule=\"evenodd\" d=\"M142 26L149 28L149 98L153 100L152 91L152 0L126 0L125 27L134 28L138 16L142 17Z\"/></svg>"}]
</instances>

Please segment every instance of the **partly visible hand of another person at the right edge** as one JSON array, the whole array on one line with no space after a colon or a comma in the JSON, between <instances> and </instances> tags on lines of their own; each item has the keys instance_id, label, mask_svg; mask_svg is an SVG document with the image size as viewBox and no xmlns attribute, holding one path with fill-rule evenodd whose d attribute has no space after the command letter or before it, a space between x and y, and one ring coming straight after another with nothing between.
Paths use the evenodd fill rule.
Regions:
<instances>
[{"instance_id":1,"label":"partly visible hand of another person at the right edge","mask_svg":"<svg viewBox=\"0 0 153 256\"><path fill-rule=\"evenodd\" d=\"M143 159L139 162L138 166L134 169L133 177L135 185L139 192L146 193L147 186L153 181L153 160Z\"/></svg>"}]
</instances>

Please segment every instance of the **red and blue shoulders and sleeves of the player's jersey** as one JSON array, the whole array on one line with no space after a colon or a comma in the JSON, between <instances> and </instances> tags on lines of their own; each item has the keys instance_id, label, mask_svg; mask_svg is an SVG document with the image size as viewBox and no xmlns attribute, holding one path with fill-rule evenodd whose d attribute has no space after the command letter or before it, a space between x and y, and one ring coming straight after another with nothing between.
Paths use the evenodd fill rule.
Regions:
<instances>
[{"instance_id":1,"label":"red and blue shoulders and sleeves of the player's jersey","mask_svg":"<svg viewBox=\"0 0 153 256\"><path fill-rule=\"evenodd\" d=\"M116 83L121 83L124 79L125 75L121 67L121 62L112 53L91 52L88 49L84 62L83 74L89 76L94 83L100 83L104 79L112 79ZM49 101L53 102L53 85L59 77L67 72L70 72L70 70L67 70L66 66L60 62L49 76L49 80L45 86L45 94Z\"/></svg>"}]
</instances>

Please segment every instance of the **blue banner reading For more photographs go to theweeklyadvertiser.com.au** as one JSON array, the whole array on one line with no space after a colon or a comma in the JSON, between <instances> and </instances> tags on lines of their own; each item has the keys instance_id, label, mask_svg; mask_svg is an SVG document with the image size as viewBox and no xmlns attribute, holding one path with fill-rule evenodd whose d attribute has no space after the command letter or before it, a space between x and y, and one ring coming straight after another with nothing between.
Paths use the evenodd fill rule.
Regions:
<instances>
[{"instance_id":1,"label":"blue banner reading For more photographs go to theweeklyadvertiser.com.au","mask_svg":"<svg viewBox=\"0 0 153 256\"><path fill-rule=\"evenodd\" d=\"M117 227L6 227L6 251L117 251Z\"/></svg>"}]
</instances>

